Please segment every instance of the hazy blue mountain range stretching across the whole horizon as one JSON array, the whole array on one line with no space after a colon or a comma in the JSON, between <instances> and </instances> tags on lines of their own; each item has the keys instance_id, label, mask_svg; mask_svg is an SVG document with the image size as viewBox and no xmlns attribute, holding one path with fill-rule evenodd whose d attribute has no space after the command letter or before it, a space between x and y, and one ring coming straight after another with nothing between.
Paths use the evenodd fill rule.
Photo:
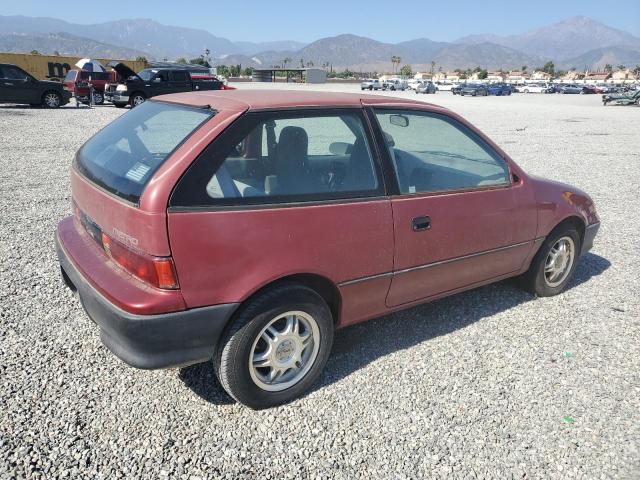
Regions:
<instances>
[{"instance_id":1,"label":"hazy blue mountain range stretching across the whole horizon","mask_svg":"<svg viewBox=\"0 0 640 480\"><path fill-rule=\"evenodd\" d=\"M0 15L0 50L95 56L106 58L194 58L205 49L215 63L271 67L330 64L334 69L388 71L391 57L414 70L436 68L530 68L552 60L557 67L601 69L640 64L640 38L591 18L571 17L518 35L473 34L454 42L428 38L384 43L351 34L304 44L231 41L194 28L131 19L84 25L48 17Z\"/></svg>"}]
</instances>

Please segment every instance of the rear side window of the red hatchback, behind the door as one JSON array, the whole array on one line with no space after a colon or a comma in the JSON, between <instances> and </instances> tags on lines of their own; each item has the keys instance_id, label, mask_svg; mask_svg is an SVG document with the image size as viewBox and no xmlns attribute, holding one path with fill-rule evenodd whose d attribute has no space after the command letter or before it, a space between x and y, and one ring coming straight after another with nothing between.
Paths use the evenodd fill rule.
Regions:
<instances>
[{"instance_id":1,"label":"rear side window of the red hatchback, behind the door","mask_svg":"<svg viewBox=\"0 0 640 480\"><path fill-rule=\"evenodd\" d=\"M247 114L192 165L171 206L273 204L380 194L360 111Z\"/></svg>"}]
</instances>

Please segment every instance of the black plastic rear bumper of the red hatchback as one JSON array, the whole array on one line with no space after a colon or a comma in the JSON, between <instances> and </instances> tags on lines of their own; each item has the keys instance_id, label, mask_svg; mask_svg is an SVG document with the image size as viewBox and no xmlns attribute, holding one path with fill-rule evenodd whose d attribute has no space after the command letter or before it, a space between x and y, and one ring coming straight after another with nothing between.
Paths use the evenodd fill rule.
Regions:
<instances>
[{"instance_id":1,"label":"black plastic rear bumper of the red hatchback","mask_svg":"<svg viewBox=\"0 0 640 480\"><path fill-rule=\"evenodd\" d=\"M76 290L100 339L128 365L158 369L190 365L213 358L220 335L238 303L158 315L135 315L104 298L78 271L56 234L56 250L65 284Z\"/></svg>"}]
</instances>

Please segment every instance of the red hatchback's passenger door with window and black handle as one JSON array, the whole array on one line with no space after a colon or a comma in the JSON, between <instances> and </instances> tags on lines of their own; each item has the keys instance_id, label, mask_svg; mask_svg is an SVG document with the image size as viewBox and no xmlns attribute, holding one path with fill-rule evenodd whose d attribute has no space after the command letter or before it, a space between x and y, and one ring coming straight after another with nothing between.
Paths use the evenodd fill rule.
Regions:
<instances>
[{"instance_id":1,"label":"red hatchback's passenger door with window and black handle","mask_svg":"<svg viewBox=\"0 0 640 480\"><path fill-rule=\"evenodd\" d=\"M459 120L377 108L399 194L392 197L396 307L520 270L537 228L531 189Z\"/></svg>"}]
</instances>

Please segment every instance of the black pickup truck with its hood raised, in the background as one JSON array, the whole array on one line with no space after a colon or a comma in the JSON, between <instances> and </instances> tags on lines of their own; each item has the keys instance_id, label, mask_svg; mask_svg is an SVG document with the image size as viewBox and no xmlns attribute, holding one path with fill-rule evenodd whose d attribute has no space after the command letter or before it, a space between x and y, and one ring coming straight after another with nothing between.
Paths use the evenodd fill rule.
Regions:
<instances>
[{"instance_id":1,"label":"black pickup truck with its hood raised, in the background","mask_svg":"<svg viewBox=\"0 0 640 480\"><path fill-rule=\"evenodd\" d=\"M147 98L167 93L192 90L227 90L220 80L208 70L191 71L181 68L145 68L135 73L123 63L113 66L118 73L118 83L105 86L104 98L118 108L135 107Z\"/></svg>"}]
</instances>

